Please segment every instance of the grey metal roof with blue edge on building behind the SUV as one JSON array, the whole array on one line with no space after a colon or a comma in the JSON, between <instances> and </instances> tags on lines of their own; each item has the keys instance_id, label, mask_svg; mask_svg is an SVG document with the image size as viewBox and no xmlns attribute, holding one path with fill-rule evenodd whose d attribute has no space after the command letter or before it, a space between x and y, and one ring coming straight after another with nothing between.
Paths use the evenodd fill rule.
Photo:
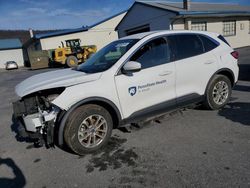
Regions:
<instances>
[{"instance_id":1,"label":"grey metal roof with blue edge on building behind the SUV","mask_svg":"<svg viewBox=\"0 0 250 188\"><path fill-rule=\"evenodd\" d=\"M136 1L156 8L177 13L177 15L250 15L250 6L242 6L230 3L202 3L191 2L190 9L183 9L183 2L164 2L164 1Z\"/></svg>"}]
</instances>

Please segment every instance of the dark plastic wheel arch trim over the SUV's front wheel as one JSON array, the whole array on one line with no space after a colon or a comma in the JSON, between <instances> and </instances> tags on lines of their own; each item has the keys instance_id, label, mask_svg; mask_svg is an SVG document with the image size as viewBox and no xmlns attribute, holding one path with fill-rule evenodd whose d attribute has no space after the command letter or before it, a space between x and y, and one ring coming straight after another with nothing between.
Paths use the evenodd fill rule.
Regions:
<instances>
[{"instance_id":1,"label":"dark plastic wheel arch trim over the SUV's front wheel","mask_svg":"<svg viewBox=\"0 0 250 188\"><path fill-rule=\"evenodd\" d=\"M58 127L58 145L62 146L64 144L64 137L63 137L63 132L64 132L64 127L66 125L66 121L70 114L78 107L85 105L85 104L96 104L99 106L102 106L108 112L110 113L113 123L114 123L114 128L117 128L119 126L119 123L121 122L121 113L117 106L110 100L102 97L90 97L84 100L79 101L75 105L73 105L68 111L66 111L63 114L63 117L61 118L59 122L59 127Z\"/></svg>"}]
</instances>

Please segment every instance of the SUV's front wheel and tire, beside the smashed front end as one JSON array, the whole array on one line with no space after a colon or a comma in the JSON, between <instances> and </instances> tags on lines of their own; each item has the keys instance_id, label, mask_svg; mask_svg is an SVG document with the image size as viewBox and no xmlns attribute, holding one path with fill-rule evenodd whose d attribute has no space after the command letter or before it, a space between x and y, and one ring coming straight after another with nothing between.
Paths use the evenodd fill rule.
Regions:
<instances>
[{"instance_id":1,"label":"SUV's front wheel and tire, beside the smashed front end","mask_svg":"<svg viewBox=\"0 0 250 188\"><path fill-rule=\"evenodd\" d=\"M73 152L84 155L106 145L112 129L113 121L109 112L101 106L87 104L70 115L64 129L64 140Z\"/></svg>"}]
</instances>

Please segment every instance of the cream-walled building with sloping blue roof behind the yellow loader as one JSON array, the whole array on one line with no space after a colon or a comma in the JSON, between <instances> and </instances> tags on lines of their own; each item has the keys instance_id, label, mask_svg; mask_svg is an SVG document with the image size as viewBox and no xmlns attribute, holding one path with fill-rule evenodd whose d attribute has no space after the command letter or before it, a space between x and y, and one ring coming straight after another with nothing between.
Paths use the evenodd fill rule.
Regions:
<instances>
[{"instance_id":1,"label":"cream-walled building with sloping blue roof behind the yellow loader","mask_svg":"<svg viewBox=\"0 0 250 188\"><path fill-rule=\"evenodd\" d=\"M37 34L34 36L34 42L29 48L33 50L52 50L62 46L62 42L65 40L81 39L81 45L96 45L99 50L111 41L118 39L115 27L125 14L126 11L121 12L89 27Z\"/></svg>"}]
</instances>

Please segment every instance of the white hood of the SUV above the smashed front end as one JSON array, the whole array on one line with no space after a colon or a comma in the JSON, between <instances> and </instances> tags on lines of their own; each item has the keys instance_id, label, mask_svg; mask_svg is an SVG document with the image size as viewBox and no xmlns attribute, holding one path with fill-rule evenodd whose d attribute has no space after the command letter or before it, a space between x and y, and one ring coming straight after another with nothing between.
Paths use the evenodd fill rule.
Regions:
<instances>
[{"instance_id":1,"label":"white hood of the SUV above the smashed front end","mask_svg":"<svg viewBox=\"0 0 250 188\"><path fill-rule=\"evenodd\" d=\"M19 97L23 97L45 89L68 87L85 82L95 81L100 77L101 73L86 74L84 72L75 71L72 69L50 71L32 76L24 80L16 86L15 90Z\"/></svg>"}]
</instances>

